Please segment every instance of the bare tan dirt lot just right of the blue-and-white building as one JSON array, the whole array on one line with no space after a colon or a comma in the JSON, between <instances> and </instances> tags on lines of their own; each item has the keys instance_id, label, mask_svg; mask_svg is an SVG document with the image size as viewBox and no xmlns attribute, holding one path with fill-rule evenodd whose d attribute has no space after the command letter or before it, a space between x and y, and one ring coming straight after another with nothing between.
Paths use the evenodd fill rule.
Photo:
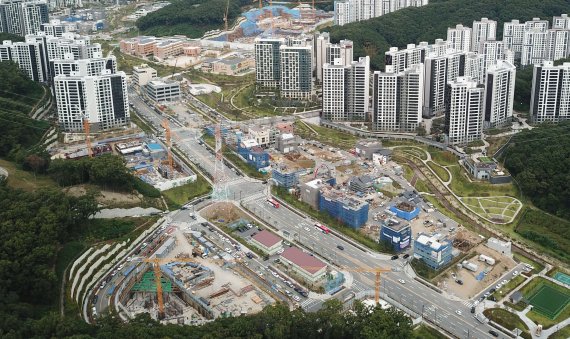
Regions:
<instances>
[{"instance_id":1,"label":"bare tan dirt lot just right of the blue-and-white building","mask_svg":"<svg viewBox=\"0 0 570 339\"><path fill-rule=\"evenodd\" d=\"M490 266L479 261L479 254L484 254L495 259L495 265ZM469 271L465 268L457 268L456 266L451 267L440 277L440 279L438 279L438 286L450 294L469 299L477 295L485 287L497 280L507 270L512 269L516 265L511 258L499 255L497 252L483 244L475 247L467 258L470 256L471 258L468 259L468 261L478 266L476 272ZM484 269L490 269L489 273L483 278L483 280L477 281L475 277ZM459 285L455 282L455 279L452 277L452 273L455 273L457 278L463 281L463 285Z\"/></svg>"}]
</instances>

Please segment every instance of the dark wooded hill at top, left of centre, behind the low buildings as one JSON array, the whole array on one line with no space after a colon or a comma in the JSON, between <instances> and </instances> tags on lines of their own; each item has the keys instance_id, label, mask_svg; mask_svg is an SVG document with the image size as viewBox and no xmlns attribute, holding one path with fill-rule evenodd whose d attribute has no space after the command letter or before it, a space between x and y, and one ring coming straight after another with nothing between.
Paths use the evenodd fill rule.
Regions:
<instances>
[{"instance_id":1,"label":"dark wooded hill at top, left of centre, behind the low buildings","mask_svg":"<svg viewBox=\"0 0 570 339\"><path fill-rule=\"evenodd\" d=\"M201 37L212 29L223 28L224 14L228 7L228 27L242 13L242 7L251 5L249 0L177 0L156 12L137 20L137 27L144 34L183 34L190 38Z\"/></svg>"}]
</instances>

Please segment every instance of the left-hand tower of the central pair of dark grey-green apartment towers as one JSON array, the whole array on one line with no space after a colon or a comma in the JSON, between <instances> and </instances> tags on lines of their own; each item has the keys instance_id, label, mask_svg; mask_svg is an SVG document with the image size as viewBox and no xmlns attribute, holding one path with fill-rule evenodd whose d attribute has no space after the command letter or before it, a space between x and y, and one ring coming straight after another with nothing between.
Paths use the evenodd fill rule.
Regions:
<instances>
[{"instance_id":1,"label":"left-hand tower of the central pair of dark grey-green apartment towers","mask_svg":"<svg viewBox=\"0 0 570 339\"><path fill-rule=\"evenodd\" d=\"M255 39L255 82L260 87L277 88L281 80L279 48L285 39Z\"/></svg>"}]
</instances>

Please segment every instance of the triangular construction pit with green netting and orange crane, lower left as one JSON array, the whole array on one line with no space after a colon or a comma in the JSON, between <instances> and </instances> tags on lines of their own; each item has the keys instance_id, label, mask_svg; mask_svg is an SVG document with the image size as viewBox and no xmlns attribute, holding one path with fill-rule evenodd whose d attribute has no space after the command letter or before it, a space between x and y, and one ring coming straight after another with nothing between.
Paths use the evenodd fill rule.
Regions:
<instances>
[{"instance_id":1,"label":"triangular construction pit with green netting and orange crane, lower left","mask_svg":"<svg viewBox=\"0 0 570 339\"><path fill-rule=\"evenodd\" d=\"M253 314L274 302L242 276L238 255L192 226L171 225L170 237L152 257L133 267L119 295L126 314L149 313L166 323L195 325Z\"/></svg>"}]
</instances>

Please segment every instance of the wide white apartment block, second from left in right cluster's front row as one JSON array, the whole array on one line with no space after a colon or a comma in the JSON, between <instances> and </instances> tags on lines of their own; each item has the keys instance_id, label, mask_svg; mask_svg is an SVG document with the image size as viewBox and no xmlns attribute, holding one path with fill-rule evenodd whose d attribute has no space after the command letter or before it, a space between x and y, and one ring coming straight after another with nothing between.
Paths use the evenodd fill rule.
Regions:
<instances>
[{"instance_id":1,"label":"wide white apartment block, second from left in right cluster's front row","mask_svg":"<svg viewBox=\"0 0 570 339\"><path fill-rule=\"evenodd\" d=\"M422 122L423 65L400 73L374 72L372 127L377 131L415 132Z\"/></svg>"}]
</instances>

